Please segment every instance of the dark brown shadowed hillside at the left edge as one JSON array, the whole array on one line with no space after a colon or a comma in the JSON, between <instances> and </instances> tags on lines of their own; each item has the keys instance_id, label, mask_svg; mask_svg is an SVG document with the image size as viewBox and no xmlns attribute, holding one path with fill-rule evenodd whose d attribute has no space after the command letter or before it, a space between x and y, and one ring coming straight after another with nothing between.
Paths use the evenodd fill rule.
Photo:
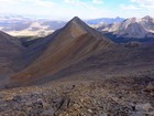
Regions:
<instances>
[{"instance_id":1,"label":"dark brown shadowed hillside at the left edge","mask_svg":"<svg viewBox=\"0 0 154 116\"><path fill-rule=\"evenodd\" d=\"M0 73L10 73L15 70L14 63L22 50L23 46L19 40L0 31Z\"/></svg>"}]
</instances>

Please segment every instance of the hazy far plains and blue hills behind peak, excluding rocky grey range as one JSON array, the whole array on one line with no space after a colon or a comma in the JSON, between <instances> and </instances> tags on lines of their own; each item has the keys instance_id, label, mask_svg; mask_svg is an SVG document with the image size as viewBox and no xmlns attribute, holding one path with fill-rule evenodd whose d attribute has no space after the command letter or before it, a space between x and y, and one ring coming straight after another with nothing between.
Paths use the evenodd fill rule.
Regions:
<instances>
[{"instance_id":1,"label":"hazy far plains and blue hills behind peak, excluding rocky grey range","mask_svg":"<svg viewBox=\"0 0 154 116\"><path fill-rule=\"evenodd\" d=\"M101 18L94 20L86 20L86 22L94 27L98 28L102 23L109 24L113 22L121 22L124 19L122 18ZM22 15L4 15L0 17L0 30L4 31L11 35L37 35L45 36L50 33L53 33L55 30L63 28L66 24L66 21L57 21L50 19L31 19L24 18Z\"/></svg>"}]
</instances>

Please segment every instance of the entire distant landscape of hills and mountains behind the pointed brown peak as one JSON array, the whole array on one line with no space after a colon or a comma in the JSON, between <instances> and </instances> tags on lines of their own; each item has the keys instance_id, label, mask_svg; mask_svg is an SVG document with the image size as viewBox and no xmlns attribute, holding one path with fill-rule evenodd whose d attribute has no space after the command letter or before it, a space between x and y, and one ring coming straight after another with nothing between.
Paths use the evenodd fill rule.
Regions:
<instances>
[{"instance_id":1,"label":"entire distant landscape of hills and mountains behind the pointed brown peak","mask_svg":"<svg viewBox=\"0 0 154 116\"><path fill-rule=\"evenodd\" d=\"M85 21L114 42L153 41L154 19L100 18ZM46 36L63 28L66 21L31 19L21 15L0 17L0 30L15 36Z\"/></svg>"}]
</instances>

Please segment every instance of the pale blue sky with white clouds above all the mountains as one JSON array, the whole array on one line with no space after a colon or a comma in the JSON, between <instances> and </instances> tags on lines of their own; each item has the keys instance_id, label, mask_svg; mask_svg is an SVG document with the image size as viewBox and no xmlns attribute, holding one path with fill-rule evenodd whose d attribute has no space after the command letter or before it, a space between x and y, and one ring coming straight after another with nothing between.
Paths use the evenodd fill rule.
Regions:
<instances>
[{"instance_id":1,"label":"pale blue sky with white clouds above all the mountains","mask_svg":"<svg viewBox=\"0 0 154 116\"><path fill-rule=\"evenodd\" d=\"M154 17L154 0L0 0L0 14L81 19Z\"/></svg>"}]
</instances>

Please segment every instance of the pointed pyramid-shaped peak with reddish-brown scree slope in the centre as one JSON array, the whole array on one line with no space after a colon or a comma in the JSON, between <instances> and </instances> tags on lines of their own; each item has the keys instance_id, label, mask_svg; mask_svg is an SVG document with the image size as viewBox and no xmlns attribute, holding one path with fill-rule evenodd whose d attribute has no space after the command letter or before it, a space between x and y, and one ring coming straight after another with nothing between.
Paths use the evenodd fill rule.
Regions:
<instances>
[{"instance_id":1,"label":"pointed pyramid-shaped peak with reddish-brown scree slope in the centre","mask_svg":"<svg viewBox=\"0 0 154 116\"><path fill-rule=\"evenodd\" d=\"M14 82L24 85L40 80L43 80L41 83L53 80L52 75L58 74L62 70L77 64L98 51L105 51L112 44L110 40L77 17L45 40L47 41L44 42L45 50L25 70L12 77Z\"/></svg>"}]
</instances>

